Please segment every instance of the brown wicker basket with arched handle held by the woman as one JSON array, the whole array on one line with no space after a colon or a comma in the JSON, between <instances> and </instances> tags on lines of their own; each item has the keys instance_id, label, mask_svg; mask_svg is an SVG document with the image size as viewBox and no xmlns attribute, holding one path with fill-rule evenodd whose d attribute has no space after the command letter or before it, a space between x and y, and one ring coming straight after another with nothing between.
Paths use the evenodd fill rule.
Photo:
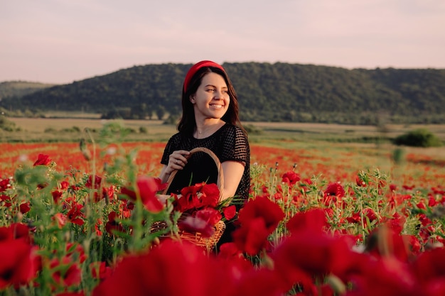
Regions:
<instances>
[{"instance_id":1,"label":"brown wicker basket with arched handle held by the woman","mask_svg":"<svg viewBox=\"0 0 445 296\"><path fill-rule=\"evenodd\" d=\"M221 199L221 197L223 196L224 176L223 176L223 167L220 163L220 160L218 159L218 156L215 155L215 153L213 153L208 148L203 148L203 147L192 149L190 151L190 155L188 155L187 158L190 158L191 155L198 152L207 153L210 156L210 158L212 158L213 161L215 162L216 168L218 169L218 178L216 185L220 190L220 199ZM168 191L168 187L170 187L171 182L173 182L176 172L178 171L174 170L173 172L171 172L170 177L168 177L168 180L166 182L167 186L162 192L163 196L166 196L165 194ZM161 231L165 228L166 228L166 222L158 221L151 226L151 232ZM207 251L211 251L216 246L216 243L218 243L218 241L220 240L224 231L225 231L225 223L224 221L219 221L217 224L215 224L215 233L213 234L213 236L210 236L208 238L203 237L199 232L192 234L187 231L178 231L178 236L180 239L190 241L191 243L194 243L196 246L200 246L207 249ZM169 234L161 235L161 238L166 236L170 235Z\"/></svg>"}]
</instances>

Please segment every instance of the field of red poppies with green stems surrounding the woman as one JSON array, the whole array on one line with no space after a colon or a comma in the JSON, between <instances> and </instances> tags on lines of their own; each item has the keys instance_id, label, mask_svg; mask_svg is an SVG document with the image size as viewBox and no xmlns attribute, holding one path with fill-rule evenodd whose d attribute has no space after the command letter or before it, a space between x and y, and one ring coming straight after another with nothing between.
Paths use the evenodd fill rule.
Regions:
<instances>
[{"instance_id":1,"label":"field of red poppies with green stems surrounding the woman","mask_svg":"<svg viewBox=\"0 0 445 296\"><path fill-rule=\"evenodd\" d=\"M117 129L0 143L0 295L445 295L443 159L251 143L236 212L211 185L160 199L165 143ZM238 226L218 251L179 235L216 221Z\"/></svg>"}]
</instances>

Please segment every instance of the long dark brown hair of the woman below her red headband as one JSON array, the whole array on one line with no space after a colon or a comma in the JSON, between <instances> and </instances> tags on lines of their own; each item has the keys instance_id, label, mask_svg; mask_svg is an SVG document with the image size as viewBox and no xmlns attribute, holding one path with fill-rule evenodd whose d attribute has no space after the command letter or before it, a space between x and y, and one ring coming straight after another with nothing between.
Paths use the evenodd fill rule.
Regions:
<instances>
[{"instance_id":1,"label":"long dark brown hair of the woman below her red headband","mask_svg":"<svg viewBox=\"0 0 445 296\"><path fill-rule=\"evenodd\" d=\"M183 90L182 117L177 126L178 131L181 133L188 133L190 135L193 134L193 132L195 131L196 128L195 110L193 109L193 104L190 102L190 97L192 94L196 92L196 90L200 86L203 77L210 72L221 75L224 78L225 83L227 84L227 91L230 97L230 104L229 108L222 117L223 121L227 122L227 124L233 124L239 126L242 129L242 131L246 133L245 129L242 127L240 116L238 114L239 112L238 98L235 89L233 88L232 82L230 81L225 71L219 69L218 67L200 68L198 71L196 71L195 75L193 75L190 82L186 86L187 91L184 92Z\"/></svg>"}]
</instances>

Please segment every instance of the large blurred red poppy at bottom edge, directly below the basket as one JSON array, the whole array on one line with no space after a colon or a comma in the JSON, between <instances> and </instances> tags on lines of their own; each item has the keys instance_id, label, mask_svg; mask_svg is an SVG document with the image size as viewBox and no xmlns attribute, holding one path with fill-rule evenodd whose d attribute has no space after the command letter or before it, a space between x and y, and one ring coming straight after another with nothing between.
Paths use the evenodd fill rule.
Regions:
<instances>
[{"instance_id":1,"label":"large blurred red poppy at bottom edge, directly below the basket","mask_svg":"<svg viewBox=\"0 0 445 296\"><path fill-rule=\"evenodd\" d=\"M192 243L166 239L149 253L123 258L92 296L231 295L238 272Z\"/></svg>"}]
</instances>

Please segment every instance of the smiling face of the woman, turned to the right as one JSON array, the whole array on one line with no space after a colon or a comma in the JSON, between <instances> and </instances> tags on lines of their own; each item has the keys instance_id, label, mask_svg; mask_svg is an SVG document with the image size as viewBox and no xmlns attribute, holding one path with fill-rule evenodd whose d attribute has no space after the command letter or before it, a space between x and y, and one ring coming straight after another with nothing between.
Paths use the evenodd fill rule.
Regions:
<instances>
[{"instance_id":1,"label":"smiling face of the woman, turned to the right","mask_svg":"<svg viewBox=\"0 0 445 296\"><path fill-rule=\"evenodd\" d=\"M230 96L224 78L210 72L191 97L196 119L220 119L229 108Z\"/></svg>"}]
</instances>

